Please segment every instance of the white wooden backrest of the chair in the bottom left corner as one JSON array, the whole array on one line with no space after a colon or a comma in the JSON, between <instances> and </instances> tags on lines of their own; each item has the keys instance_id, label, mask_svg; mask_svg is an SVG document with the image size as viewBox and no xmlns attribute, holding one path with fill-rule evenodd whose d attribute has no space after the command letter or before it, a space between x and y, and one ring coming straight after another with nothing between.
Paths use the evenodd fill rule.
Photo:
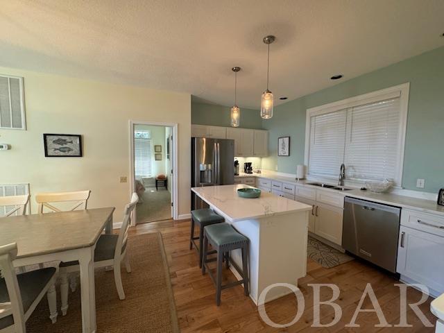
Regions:
<instances>
[{"instance_id":1,"label":"white wooden backrest of the chair in the bottom left corner","mask_svg":"<svg viewBox=\"0 0 444 333\"><path fill-rule=\"evenodd\" d=\"M12 314L14 318L14 332L25 332L24 309L22 303L22 295L15 275L15 268L12 266L12 260L17 256L17 244L12 243L0 246L0 271L1 278L5 279L6 289L10 302L3 303L0 311L0 318L4 318ZM0 308L0 309L1 309Z\"/></svg>"}]
</instances>

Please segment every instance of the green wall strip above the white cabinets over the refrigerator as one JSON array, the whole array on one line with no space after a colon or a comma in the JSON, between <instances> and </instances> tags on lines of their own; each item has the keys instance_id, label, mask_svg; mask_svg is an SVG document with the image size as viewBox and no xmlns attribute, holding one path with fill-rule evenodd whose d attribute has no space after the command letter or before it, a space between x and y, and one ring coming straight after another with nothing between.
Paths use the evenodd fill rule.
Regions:
<instances>
[{"instance_id":1,"label":"green wall strip above the white cabinets over the refrigerator","mask_svg":"<svg viewBox=\"0 0 444 333\"><path fill-rule=\"evenodd\" d=\"M258 110L241 108L241 128L262 129L262 118ZM191 102L191 123L211 126L230 126L228 106Z\"/></svg>"}]
</instances>

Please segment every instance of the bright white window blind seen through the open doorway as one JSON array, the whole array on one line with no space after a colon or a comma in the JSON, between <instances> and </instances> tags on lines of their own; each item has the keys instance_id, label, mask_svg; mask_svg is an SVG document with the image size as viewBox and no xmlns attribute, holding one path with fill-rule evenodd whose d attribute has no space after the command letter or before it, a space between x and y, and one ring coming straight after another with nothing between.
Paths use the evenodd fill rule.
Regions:
<instances>
[{"instance_id":1,"label":"bright white window blind seen through the open doorway","mask_svg":"<svg viewBox=\"0 0 444 333\"><path fill-rule=\"evenodd\" d=\"M151 139L149 132L136 131L134 138L135 174L151 177Z\"/></svg>"}]
</instances>

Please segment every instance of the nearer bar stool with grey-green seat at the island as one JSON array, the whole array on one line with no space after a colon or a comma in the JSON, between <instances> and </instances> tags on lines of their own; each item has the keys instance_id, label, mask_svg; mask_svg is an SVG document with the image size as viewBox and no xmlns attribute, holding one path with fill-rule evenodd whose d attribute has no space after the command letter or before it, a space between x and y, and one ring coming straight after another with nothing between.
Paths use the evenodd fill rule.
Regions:
<instances>
[{"instance_id":1,"label":"nearer bar stool with grey-green seat at the island","mask_svg":"<svg viewBox=\"0 0 444 333\"><path fill-rule=\"evenodd\" d=\"M217 252L216 280L214 280L214 276L207 266L208 262L214 261L214 259L207 259L207 255L209 254L208 244ZM236 250L237 248L241 249L242 252L242 271L237 264L230 259L230 251ZM241 275L242 280L222 285L222 263L224 259L226 267L228 268L231 263L237 273ZM245 296L248 296L248 238L239 234L239 232L234 230L228 223L208 225L204 230L203 236L202 274L205 274L205 268L208 269L208 274L210 274L210 278L216 286L216 305L218 307L221 305L222 289L244 284L244 293Z\"/></svg>"}]
</instances>

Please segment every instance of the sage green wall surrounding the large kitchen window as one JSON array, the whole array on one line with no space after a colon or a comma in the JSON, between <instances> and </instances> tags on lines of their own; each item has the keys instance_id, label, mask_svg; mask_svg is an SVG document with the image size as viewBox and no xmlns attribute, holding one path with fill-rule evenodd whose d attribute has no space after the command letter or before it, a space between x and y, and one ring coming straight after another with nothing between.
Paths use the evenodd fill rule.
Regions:
<instances>
[{"instance_id":1,"label":"sage green wall surrounding the large kitchen window","mask_svg":"<svg viewBox=\"0 0 444 333\"><path fill-rule=\"evenodd\" d=\"M275 107L273 118L262 121L262 128L269 131L270 154L262 159L262 168L275 170L278 166L280 172L296 173L296 164L304 163L307 108L407 82L410 94L402 186L438 193L444 187L444 47ZM290 156L278 157L278 137L287 135L291 137ZM417 178L425 179L425 189L416 188Z\"/></svg>"}]
</instances>

